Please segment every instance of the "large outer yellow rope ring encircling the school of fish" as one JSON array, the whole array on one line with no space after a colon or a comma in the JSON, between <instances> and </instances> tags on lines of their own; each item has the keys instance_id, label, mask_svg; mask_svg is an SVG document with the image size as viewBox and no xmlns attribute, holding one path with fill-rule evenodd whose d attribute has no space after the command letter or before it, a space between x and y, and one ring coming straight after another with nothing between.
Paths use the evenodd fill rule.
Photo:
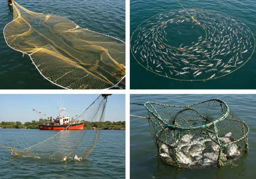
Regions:
<instances>
[{"instance_id":1,"label":"large outer yellow rope ring encircling the school of fish","mask_svg":"<svg viewBox=\"0 0 256 179\"><path fill-rule=\"evenodd\" d=\"M220 12L220 11L215 11L215 10L210 10L210 9L198 9L198 8L188 8L188 9L189 9L189 10L208 10L208 11L213 11L213 12L219 12L219 13L228 15L229 17L233 17L233 18L239 20L238 18L236 18L236 17L234 17L234 16L231 16L231 15L229 15L229 14L227 14L227 13ZM176 11L176 10L184 10L184 9L174 9L174 10L165 11L165 12L171 12L171 11ZM161 14L161 13L165 13L165 12L160 12L160 13L154 15L154 16L157 16L157 15L159 15L159 14ZM152 17L154 17L154 16L152 16ZM144 22L148 21L148 20L149 20L150 18L152 18L152 17L149 17L147 20L143 21L142 23L140 23L140 25L142 25ZM241 20L239 20L239 21L242 22ZM243 24L250 30L250 32L252 33L251 29L250 29L244 22L242 22L242 23L243 23ZM137 29L140 27L140 25L135 29L135 31L137 31ZM139 63L139 61L135 58L135 55L133 54L132 45L131 45L131 43L132 43L132 37L133 37L133 34L135 33L135 31L132 33L132 36L130 37L130 50L131 50L131 52L132 52L132 55L133 55L134 59ZM252 33L252 37L254 38L254 49L253 49L253 51L252 51L251 56L250 56L250 57L245 61L245 63L243 63L241 66L243 66L244 64L246 64L247 61L249 61L249 60L251 59L252 55L254 54L254 50L255 50L255 47L256 47L256 40L255 40L255 37L254 37L254 34L253 34L253 33ZM183 50L184 50L184 49L183 49ZM142 65L141 63L139 63L139 64L140 64L141 66L143 66L146 70L151 71L150 69L146 68L146 67L145 67L144 65ZM172 80L178 80L178 81L206 81L206 80L217 79L217 78L226 76L226 75L228 75L228 74L231 74L232 72L238 70L241 66L239 66L239 67L236 68L235 70L230 71L229 73L224 74L224 75L222 75L222 76L213 77L213 78L207 78L207 79L203 79L203 80L184 80L184 79L177 79L177 78L171 78L171 77L167 77L167 76L164 76L164 75L160 75L160 74L158 74L158 73L156 73L156 72L154 72L154 71L151 71L151 72L153 72L153 73L156 74L156 75L160 75L160 76L163 76L163 77L166 77L166 78L170 78L170 79L172 79Z\"/></svg>"}]
</instances>

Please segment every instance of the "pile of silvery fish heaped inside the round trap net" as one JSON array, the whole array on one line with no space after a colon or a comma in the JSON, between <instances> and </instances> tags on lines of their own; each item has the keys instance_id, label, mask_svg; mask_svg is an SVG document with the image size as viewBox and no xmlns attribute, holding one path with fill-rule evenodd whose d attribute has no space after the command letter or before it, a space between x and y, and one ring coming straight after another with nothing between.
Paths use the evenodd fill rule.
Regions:
<instances>
[{"instance_id":1,"label":"pile of silvery fish heaped inside the round trap net","mask_svg":"<svg viewBox=\"0 0 256 179\"><path fill-rule=\"evenodd\" d=\"M213 137L213 136L212 136ZM235 141L231 132L220 137L220 143L223 145ZM160 158L174 162L175 158L178 163L186 165L188 167L196 166L216 166L218 157L222 162L228 159L234 159L240 155L241 147L236 143L231 143L226 146L223 152L219 156L220 146L213 141L210 137L193 136L186 134L181 137L180 142L175 148L170 148L165 144L160 146L159 156Z\"/></svg>"}]
</instances>

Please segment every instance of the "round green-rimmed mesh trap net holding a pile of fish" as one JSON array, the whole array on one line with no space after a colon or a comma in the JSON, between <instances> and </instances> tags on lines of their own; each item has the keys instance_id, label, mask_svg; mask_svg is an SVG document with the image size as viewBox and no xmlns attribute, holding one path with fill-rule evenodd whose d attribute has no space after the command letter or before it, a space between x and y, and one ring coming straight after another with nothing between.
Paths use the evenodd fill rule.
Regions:
<instances>
[{"instance_id":1,"label":"round green-rimmed mesh trap net holding a pile of fish","mask_svg":"<svg viewBox=\"0 0 256 179\"><path fill-rule=\"evenodd\" d=\"M142 105L148 110L150 132L165 164L222 167L248 151L249 127L220 99L188 106Z\"/></svg>"}]
</instances>

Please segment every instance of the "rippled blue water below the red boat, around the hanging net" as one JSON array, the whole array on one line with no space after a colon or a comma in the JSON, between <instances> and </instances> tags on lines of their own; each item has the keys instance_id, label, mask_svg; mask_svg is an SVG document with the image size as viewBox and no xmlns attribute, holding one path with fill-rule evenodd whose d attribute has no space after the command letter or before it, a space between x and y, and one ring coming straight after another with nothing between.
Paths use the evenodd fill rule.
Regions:
<instances>
[{"instance_id":1,"label":"rippled blue water below the red boat, around the hanging net","mask_svg":"<svg viewBox=\"0 0 256 179\"><path fill-rule=\"evenodd\" d=\"M0 144L23 149L48 139L58 131L0 129ZM70 131L73 132L73 131ZM11 155L0 147L0 178L125 178L125 131L102 130L96 147L82 162L36 163Z\"/></svg>"}]
</instances>

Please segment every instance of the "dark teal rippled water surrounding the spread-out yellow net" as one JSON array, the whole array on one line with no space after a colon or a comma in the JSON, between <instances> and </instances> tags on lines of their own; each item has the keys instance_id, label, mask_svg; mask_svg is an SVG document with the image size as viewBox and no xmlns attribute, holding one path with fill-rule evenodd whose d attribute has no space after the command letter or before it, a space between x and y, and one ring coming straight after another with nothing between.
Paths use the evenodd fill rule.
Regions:
<instances>
[{"instance_id":1,"label":"dark teal rippled water surrounding the spread-out yellow net","mask_svg":"<svg viewBox=\"0 0 256 179\"><path fill-rule=\"evenodd\" d=\"M17 0L26 9L60 15L83 28L125 41L124 0ZM0 3L0 88L1 89L61 89L45 80L29 56L8 47L3 29L13 20L13 10L6 0Z\"/></svg>"}]
</instances>

